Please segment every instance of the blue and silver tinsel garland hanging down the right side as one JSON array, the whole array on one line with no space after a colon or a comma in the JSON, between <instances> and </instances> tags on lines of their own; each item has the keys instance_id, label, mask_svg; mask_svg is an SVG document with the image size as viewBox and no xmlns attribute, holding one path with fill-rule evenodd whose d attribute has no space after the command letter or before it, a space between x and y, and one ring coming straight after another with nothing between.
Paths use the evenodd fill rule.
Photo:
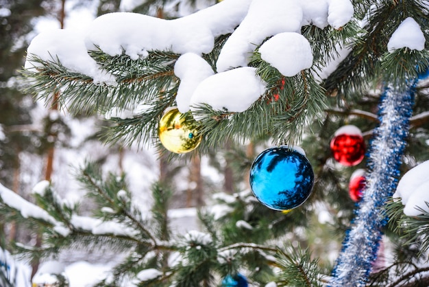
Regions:
<instances>
[{"instance_id":1,"label":"blue and silver tinsel garland hanging down the right side","mask_svg":"<svg viewBox=\"0 0 429 287\"><path fill-rule=\"evenodd\" d=\"M332 271L332 287L365 286L371 273L382 236L381 229L387 223L382 207L395 192L400 176L416 82L410 82L403 90L389 86L384 89L378 106L380 126L374 130L369 148L363 199Z\"/></svg>"}]
</instances>

